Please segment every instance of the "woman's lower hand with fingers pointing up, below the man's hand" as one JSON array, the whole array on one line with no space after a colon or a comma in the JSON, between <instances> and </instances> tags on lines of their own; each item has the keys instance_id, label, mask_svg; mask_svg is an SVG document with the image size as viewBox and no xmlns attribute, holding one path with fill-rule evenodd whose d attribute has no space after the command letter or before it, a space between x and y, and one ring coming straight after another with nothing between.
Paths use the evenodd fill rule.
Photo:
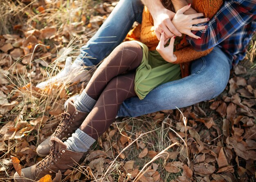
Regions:
<instances>
[{"instance_id":1,"label":"woman's lower hand with fingers pointing up, below the man's hand","mask_svg":"<svg viewBox=\"0 0 256 182\"><path fill-rule=\"evenodd\" d=\"M177 56L173 54L174 40L176 36L171 37L170 44L164 47L164 31L161 33L159 44L157 45L157 52L169 63L173 63L177 60Z\"/></svg>"}]
</instances>

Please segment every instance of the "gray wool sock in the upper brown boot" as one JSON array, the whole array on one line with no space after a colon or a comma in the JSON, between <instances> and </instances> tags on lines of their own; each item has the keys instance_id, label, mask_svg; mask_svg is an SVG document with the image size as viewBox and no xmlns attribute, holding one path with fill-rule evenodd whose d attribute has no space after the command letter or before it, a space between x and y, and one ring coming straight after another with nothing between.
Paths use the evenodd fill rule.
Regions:
<instances>
[{"instance_id":1,"label":"gray wool sock in the upper brown boot","mask_svg":"<svg viewBox=\"0 0 256 182\"><path fill-rule=\"evenodd\" d=\"M85 90L83 90L81 95L74 102L74 105L76 106L76 110L81 112L91 112L96 102L97 101L92 99L88 94L86 94Z\"/></svg>"}]
</instances>

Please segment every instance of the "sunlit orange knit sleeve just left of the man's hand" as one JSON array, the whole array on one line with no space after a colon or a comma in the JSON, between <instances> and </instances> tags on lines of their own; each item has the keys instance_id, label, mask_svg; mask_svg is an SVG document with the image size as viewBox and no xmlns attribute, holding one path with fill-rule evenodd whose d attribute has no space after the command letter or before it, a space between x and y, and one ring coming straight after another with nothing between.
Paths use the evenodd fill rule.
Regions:
<instances>
[{"instance_id":1,"label":"sunlit orange knit sleeve just left of the man's hand","mask_svg":"<svg viewBox=\"0 0 256 182\"><path fill-rule=\"evenodd\" d=\"M142 43L148 46L149 50L154 50L159 43L159 40L155 34L153 18L150 15L147 7L144 7L142 13L140 40Z\"/></svg>"}]
</instances>

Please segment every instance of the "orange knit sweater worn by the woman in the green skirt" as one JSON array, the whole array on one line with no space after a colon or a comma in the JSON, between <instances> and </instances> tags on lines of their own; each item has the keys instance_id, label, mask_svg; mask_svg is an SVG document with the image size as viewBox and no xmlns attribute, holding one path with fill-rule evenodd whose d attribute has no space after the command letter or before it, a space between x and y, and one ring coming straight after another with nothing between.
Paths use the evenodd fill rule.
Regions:
<instances>
[{"instance_id":1,"label":"orange knit sweater worn by the woman in the green skirt","mask_svg":"<svg viewBox=\"0 0 256 182\"><path fill-rule=\"evenodd\" d=\"M220 9L222 4L223 0L193 0L192 7L198 13L204 13L205 17L211 19ZM142 14L141 26L135 27L135 29L132 29L132 31L128 33L126 40L130 39L137 39L146 44L149 50L155 50L157 47L159 40L155 34L153 18L146 7L144 7ZM212 49L213 48L201 52L195 51L186 41L186 37L184 36L180 44L176 45L176 51L174 52L177 56L175 64L180 64L182 68L182 77L189 75L189 61L193 61L209 54Z\"/></svg>"}]
</instances>

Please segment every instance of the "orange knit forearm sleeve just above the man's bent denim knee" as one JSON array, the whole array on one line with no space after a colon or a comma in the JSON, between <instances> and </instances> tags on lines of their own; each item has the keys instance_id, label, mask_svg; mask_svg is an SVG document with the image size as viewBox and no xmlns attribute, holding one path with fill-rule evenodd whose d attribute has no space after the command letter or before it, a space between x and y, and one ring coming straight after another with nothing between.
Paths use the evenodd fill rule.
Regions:
<instances>
[{"instance_id":1,"label":"orange knit forearm sleeve just above the man's bent denim knee","mask_svg":"<svg viewBox=\"0 0 256 182\"><path fill-rule=\"evenodd\" d=\"M193 61L195 59L199 59L202 56L208 55L213 48L204 50L204 51L196 51L193 46L187 46L180 50L176 50L173 54L177 56L177 60L173 62L173 64L179 64L184 62Z\"/></svg>"}]
</instances>

